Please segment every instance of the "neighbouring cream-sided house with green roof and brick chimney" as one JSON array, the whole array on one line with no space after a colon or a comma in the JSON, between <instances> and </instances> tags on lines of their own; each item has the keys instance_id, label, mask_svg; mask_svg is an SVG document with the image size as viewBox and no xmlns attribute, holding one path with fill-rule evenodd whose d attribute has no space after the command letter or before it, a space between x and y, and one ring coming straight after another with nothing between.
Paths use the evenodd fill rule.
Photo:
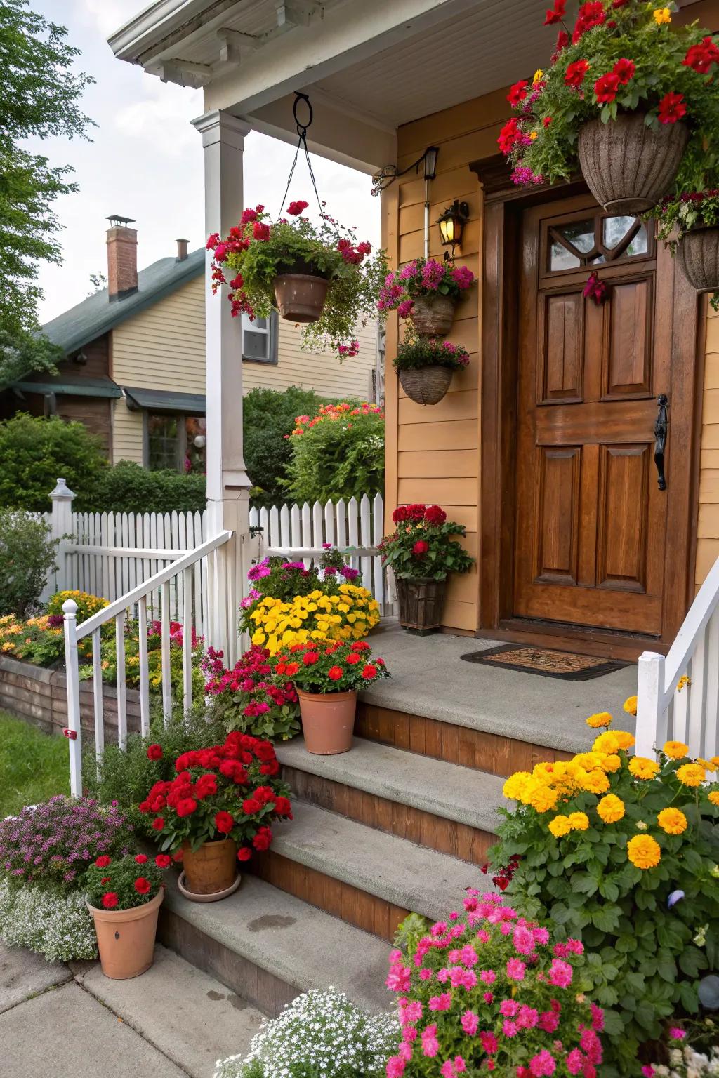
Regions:
<instances>
[{"instance_id":1,"label":"neighbouring cream-sided house with green roof and brick chimney","mask_svg":"<svg viewBox=\"0 0 719 1078\"><path fill-rule=\"evenodd\" d=\"M148 468L204 466L205 249L137 270L137 231L111 218L108 287L43 327L66 359L58 374L28 374L0 392L0 418L16 412L80 419L113 464ZM218 296L221 303L223 298ZM280 320L243 321L244 391L296 385L322 397L373 392L376 323L342 364L302 350L301 328ZM239 358L239 357L238 357Z\"/></svg>"}]
</instances>

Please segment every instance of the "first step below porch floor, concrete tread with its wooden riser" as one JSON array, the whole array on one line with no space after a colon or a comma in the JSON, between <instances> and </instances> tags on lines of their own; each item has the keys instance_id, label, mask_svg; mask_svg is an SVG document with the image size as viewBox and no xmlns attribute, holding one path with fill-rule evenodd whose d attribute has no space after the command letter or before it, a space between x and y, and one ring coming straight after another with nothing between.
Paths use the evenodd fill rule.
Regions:
<instances>
[{"instance_id":1,"label":"first step below porch floor, concrete tread with its wooden riser","mask_svg":"<svg viewBox=\"0 0 719 1078\"><path fill-rule=\"evenodd\" d=\"M482 863L495 841L503 779L356 737L351 751L314 756L277 746L295 797L439 853Z\"/></svg>"}]
</instances>

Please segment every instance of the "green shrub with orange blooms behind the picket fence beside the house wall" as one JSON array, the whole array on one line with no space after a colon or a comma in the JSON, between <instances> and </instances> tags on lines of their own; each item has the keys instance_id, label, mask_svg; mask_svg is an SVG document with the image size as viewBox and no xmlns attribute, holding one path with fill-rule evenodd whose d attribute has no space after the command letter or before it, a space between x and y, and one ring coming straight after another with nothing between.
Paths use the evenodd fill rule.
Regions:
<instances>
[{"instance_id":1,"label":"green shrub with orange blooms behind the picket fence beside the house wall","mask_svg":"<svg viewBox=\"0 0 719 1078\"><path fill-rule=\"evenodd\" d=\"M289 439L287 494L295 501L338 501L385 488L385 414L375 404L326 404L298 416Z\"/></svg>"}]
</instances>

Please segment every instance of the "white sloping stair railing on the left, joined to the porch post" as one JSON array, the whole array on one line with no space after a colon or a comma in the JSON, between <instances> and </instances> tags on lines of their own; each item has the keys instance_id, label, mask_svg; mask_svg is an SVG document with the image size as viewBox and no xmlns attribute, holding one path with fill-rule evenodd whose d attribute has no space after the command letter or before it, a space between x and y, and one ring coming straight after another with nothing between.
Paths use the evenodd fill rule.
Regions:
<instances>
[{"instance_id":1,"label":"white sloping stair railing on the left, joined to the porch post","mask_svg":"<svg viewBox=\"0 0 719 1078\"><path fill-rule=\"evenodd\" d=\"M125 624L128 618L137 617L139 640L140 681L140 729L150 729L150 672L148 665L148 603L151 596L160 594L161 607L161 668L163 715L167 721L172 710L170 686L170 585L178 594L178 579L182 588L182 700L185 710L192 705L192 630L197 630L197 608L193 597L197 594L195 578L205 572L208 582L207 594L209 632L211 642L221 648L229 664L237 660L236 618L239 596L236 594L237 571L235 566L235 543L229 542L232 531L222 531L208 539L195 550L177 557L171 565L110 603L87 621L78 624L78 606L68 599L63 606L65 616L65 662L68 694L67 736L70 742L70 792L82 794L82 727L80 715L80 672L78 641L92 636L93 641L93 710L95 718L95 750L98 755L105 747L101 630L114 620L115 660L117 691L117 743L125 748L127 741L127 689L125 683ZM175 552L177 553L177 552Z\"/></svg>"}]
</instances>

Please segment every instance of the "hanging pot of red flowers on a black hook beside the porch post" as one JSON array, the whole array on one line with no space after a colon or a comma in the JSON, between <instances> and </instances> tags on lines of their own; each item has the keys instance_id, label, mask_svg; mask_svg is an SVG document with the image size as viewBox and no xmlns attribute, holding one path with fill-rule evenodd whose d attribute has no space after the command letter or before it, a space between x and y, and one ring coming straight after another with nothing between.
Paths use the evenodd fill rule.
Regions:
<instances>
[{"instance_id":1,"label":"hanging pot of red flowers on a black hook beside the porch post","mask_svg":"<svg viewBox=\"0 0 719 1078\"><path fill-rule=\"evenodd\" d=\"M264 206L250 207L224 238L209 236L212 288L230 287L234 316L254 320L279 309L305 324L305 345L343 359L357 355L357 329L375 315L387 265L352 229L327 213L314 224L306 209L306 202L291 202L288 216L272 221Z\"/></svg>"}]
</instances>

